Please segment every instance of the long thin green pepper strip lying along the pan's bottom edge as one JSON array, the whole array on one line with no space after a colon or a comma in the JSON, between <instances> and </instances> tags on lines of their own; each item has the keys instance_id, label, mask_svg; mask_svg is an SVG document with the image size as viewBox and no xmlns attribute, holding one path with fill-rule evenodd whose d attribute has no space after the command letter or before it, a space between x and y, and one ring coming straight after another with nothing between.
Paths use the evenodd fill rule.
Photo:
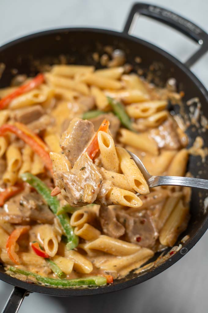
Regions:
<instances>
[{"instance_id":1,"label":"long thin green pepper strip lying along the pan's bottom edge","mask_svg":"<svg viewBox=\"0 0 208 313\"><path fill-rule=\"evenodd\" d=\"M88 276L83 278L75 278L75 279L55 279L48 278L36 273L32 273L26 271L24 269L18 269L14 266L10 266L9 271L14 272L16 274L22 274L25 276L32 276L36 278L38 282L50 285L50 286L59 286L59 287L73 287L73 286L102 286L107 284L107 280L103 276Z\"/></svg>"}]
</instances>

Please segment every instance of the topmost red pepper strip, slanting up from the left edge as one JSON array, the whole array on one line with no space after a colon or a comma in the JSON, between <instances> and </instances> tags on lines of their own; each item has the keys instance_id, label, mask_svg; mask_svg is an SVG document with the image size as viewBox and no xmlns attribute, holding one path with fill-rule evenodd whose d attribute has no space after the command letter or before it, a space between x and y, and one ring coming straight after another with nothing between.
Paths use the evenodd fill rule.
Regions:
<instances>
[{"instance_id":1,"label":"topmost red pepper strip, slanting up from the left edge","mask_svg":"<svg viewBox=\"0 0 208 313\"><path fill-rule=\"evenodd\" d=\"M2 98L0 100L0 110L5 109L14 98L38 87L43 82L44 82L44 75L38 74L35 78L29 81L29 83L20 86L17 90L13 91L11 94Z\"/></svg>"}]
</instances>

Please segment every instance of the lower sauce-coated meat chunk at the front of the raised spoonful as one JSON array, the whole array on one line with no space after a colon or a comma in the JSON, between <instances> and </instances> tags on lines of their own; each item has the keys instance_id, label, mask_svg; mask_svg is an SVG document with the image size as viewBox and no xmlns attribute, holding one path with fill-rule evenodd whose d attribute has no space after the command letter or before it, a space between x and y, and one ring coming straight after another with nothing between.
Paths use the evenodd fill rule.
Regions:
<instances>
[{"instance_id":1,"label":"lower sauce-coated meat chunk at the front of the raised spoonful","mask_svg":"<svg viewBox=\"0 0 208 313\"><path fill-rule=\"evenodd\" d=\"M63 198L73 207L93 203L100 190L102 176L87 153L80 156L70 172L54 174Z\"/></svg>"}]
</instances>

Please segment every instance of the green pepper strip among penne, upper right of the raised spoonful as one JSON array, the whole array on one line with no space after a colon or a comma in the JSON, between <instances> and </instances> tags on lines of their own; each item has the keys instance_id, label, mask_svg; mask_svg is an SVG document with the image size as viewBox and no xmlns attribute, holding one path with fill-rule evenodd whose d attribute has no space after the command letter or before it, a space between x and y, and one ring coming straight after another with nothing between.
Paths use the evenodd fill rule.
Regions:
<instances>
[{"instance_id":1,"label":"green pepper strip among penne, upper right of the raised spoonful","mask_svg":"<svg viewBox=\"0 0 208 313\"><path fill-rule=\"evenodd\" d=\"M129 115L127 115L125 111L124 105L121 102L116 101L110 97L107 97L107 99L114 114L117 115L119 120L121 121L121 124L126 128L130 129L131 131L133 131L131 120L129 118Z\"/></svg>"}]
</instances>

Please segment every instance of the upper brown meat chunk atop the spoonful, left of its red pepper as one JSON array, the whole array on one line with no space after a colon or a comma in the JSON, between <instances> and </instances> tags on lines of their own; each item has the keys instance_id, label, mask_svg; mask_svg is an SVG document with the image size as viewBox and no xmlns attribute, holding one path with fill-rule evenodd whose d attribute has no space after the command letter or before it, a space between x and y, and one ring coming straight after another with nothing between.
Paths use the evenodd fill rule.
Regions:
<instances>
[{"instance_id":1,"label":"upper brown meat chunk atop the spoonful, left of its red pepper","mask_svg":"<svg viewBox=\"0 0 208 313\"><path fill-rule=\"evenodd\" d=\"M60 146L71 165L77 161L94 135L94 126L87 120L74 118L63 132Z\"/></svg>"}]
</instances>

